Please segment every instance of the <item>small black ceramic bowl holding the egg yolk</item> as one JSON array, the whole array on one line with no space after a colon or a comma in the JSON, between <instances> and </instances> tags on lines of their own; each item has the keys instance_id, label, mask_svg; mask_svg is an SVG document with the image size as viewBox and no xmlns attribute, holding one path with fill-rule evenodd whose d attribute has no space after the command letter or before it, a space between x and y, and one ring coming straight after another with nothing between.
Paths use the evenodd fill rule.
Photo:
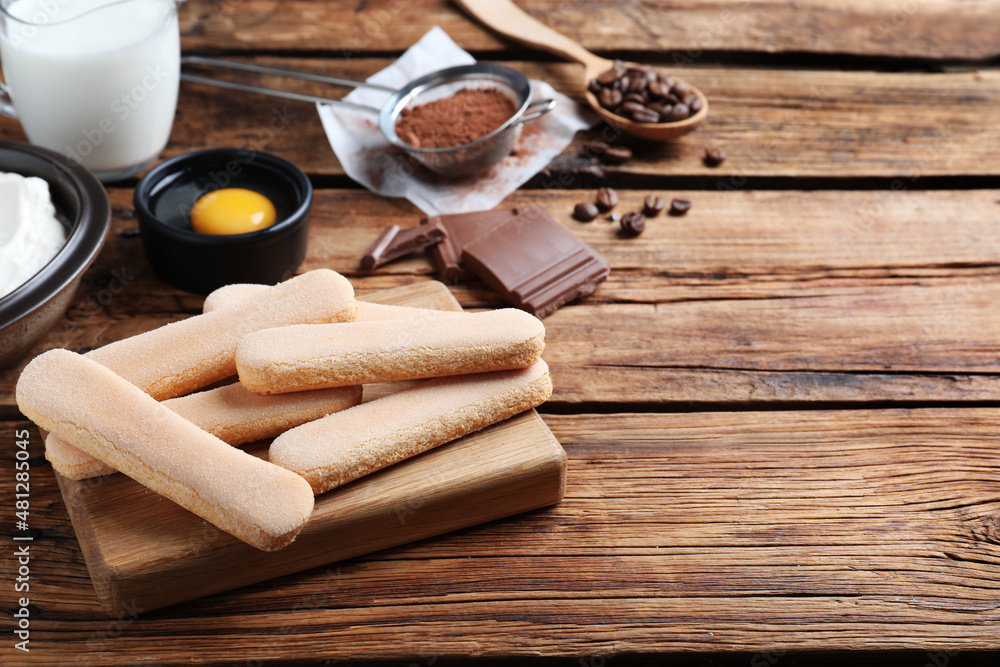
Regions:
<instances>
[{"instance_id":1,"label":"small black ceramic bowl holding the egg yolk","mask_svg":"<svg viewBox=\"0 0 1000 667\"><path fill-rule=\"evenodd\" d=\"M189 213L201 195L227 187L264 194L277 222L246 234L200 234ZM174 287L198 294L232 283L273 285L306 256L312 185L288 160L245 148L215 148L171 158L135 188L142 244L150 265Z\"/></svg>"}]
</instances>

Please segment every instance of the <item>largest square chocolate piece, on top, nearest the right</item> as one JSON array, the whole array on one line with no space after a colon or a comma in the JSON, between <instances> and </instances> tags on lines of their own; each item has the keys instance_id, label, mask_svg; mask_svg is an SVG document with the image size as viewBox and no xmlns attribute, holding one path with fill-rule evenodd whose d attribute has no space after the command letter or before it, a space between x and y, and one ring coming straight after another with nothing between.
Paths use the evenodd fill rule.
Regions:
<instances>
[{"instance_id":1,"label":"largest square chocolate piece, on top, nearest the right","mask_svg":"<svg viewBox=\"0 0 1000 667\"><path fill-rule=\"evenodd\" d=\"M540 206L467 243L462 263L536 317L590 294L611 271L608 260Z\"/></svg>"}]
</instances>

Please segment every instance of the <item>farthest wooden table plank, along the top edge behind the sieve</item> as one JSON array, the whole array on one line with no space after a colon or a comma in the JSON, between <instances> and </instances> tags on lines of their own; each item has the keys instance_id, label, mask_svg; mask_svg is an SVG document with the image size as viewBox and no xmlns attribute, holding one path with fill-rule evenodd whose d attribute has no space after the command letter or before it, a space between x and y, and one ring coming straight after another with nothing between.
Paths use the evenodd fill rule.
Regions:
<instances>
[{"instance_id":1,"label":"farthest wooden table plank, along the top edge behind the sieve","mask_svg":"<svg viewBox=\"0 0 1000 667\"><path fill-rule=\"evenodd\" d=\"M705 51L825 53L910 58L997 55L989 3L921 0L517 0L592 51L650 52L690 62ZM185 50L312 50L355 57L396 52L438 25L473 51L518 48L442 0L189 0Z\"/></svg>"}]
</instances>

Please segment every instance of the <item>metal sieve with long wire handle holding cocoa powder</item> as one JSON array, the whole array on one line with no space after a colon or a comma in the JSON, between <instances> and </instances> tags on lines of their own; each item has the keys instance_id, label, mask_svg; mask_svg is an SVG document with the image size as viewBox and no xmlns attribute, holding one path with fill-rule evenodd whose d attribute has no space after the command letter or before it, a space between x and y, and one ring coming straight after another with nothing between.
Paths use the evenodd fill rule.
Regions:
<instances>
[{"instance_id":1,"label":"metal sieve with long wire handle holding cocoa powder","mask_svg":"<svg viewBox=\"0 0 1000 667\"><path fill-rule=\"evenodd\" d=\"M189 65L203 65L208 67L222 67L228 69L255 72L258 74L273 74L277 76L287 76L294 79L306 79L308 81L318 81L320 83L330 83L340 86L351 86L354 88L373 88L391 93L388 100L381 108L369 107L354 102L332 99L328 97L318 97L315 95L305 95L277 88L264 88L235 81L225 81L212 79L196 74L183 73L181 78L192 83L201 83L219 88L239 90L249 93L259 93L272 97L282 97L303 102L319 102L321 104L336 104L339 106L378 114L378 128L386 141L393 146L397 146L409 155L412 159L424 165L431 171L442 176L457 177L475 174L487 167L491 167L505 156L510 154L518 137L521 135L521 123L542 116L556 106L553 99L539 100L531 102L531 85L527 77L516 70L502 65L491 63L476 63L474 65L461 65L449 67L424 75L399 90L382 86L379 84L367 83L365 81L354 81L335 76L325 76L322 74L310 74L308 72L297 72L294 70L280 69L277 67L264 67L261 65L249 65L246 63L230 62L217 58L204 58L201 56L187 56L181 62ZM493 130L487 135L479 137L458 146L448 146L445 148L418 148L404 142L396 134L396 121L399 114L404 109L427 104L434 100L448 97L455 94L462 88L495 88L513 100L516 107L514 114L507 119L503 125Z\"/></svg>"}]
</instances>

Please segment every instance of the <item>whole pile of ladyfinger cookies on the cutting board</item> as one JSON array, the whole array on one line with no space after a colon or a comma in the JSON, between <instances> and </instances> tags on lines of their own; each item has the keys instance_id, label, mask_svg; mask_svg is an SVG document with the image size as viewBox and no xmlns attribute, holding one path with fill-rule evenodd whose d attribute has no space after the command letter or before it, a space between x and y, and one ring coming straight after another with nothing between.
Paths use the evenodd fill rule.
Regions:
<instances>
[{"instance_id":1,"label":"whole pile of ladyfinger cookies on the cutting board","mask_svg":"<svg viewBox=\"0 0 1000 667\"><path fill-rule=\"evenodd\" d=\"M84 355L45 352L21 373L17 403L49 432L59 474L121 471L273 551L314 495L545 401L544 338L519 310L358 302L320 269L223 287L201 315ZM396 380L422 382L362 403L363 384ZM264 438L269 461L233 446Z\"/></svg>"}]
</instances>

